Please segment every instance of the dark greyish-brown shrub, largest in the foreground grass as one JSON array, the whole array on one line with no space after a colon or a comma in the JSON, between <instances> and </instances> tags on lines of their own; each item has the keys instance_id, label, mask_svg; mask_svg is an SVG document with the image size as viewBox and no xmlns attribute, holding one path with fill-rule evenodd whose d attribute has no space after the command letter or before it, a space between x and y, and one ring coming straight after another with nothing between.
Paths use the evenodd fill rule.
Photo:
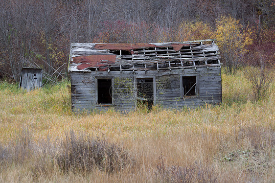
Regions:
<instances>
[{"instance_id":1,"label":"dark greyish-brown shrub, largest in the foreground grass","mask_svg":"<svg viewBox=\"0 0 275 183\"><path fill-rule=\"evenodd\" d=\"M107 172L119 171L134 163L134 159L123 148L109 144L100 138L75 136L73 131L66 134L58 165L65 171L92 171L93 168Z\"/></svg>"}]
</instances>

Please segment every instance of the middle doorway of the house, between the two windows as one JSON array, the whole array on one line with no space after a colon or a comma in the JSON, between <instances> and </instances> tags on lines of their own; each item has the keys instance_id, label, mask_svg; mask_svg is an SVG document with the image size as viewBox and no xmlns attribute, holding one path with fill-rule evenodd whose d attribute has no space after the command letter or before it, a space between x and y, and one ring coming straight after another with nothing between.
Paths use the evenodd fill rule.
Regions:
<instances>
[{"instance_id":1,"label":"middle doorway of the house, between the two windows","mask_svg":"<svg viewBox=\"0 0 275 183\"><path fill-rule=\"evenodd\" d=\"M137 92L138 102L147 104L149 109L151 109L154 103L153 78L138 78Z\"/></svg>"}]
</instances>

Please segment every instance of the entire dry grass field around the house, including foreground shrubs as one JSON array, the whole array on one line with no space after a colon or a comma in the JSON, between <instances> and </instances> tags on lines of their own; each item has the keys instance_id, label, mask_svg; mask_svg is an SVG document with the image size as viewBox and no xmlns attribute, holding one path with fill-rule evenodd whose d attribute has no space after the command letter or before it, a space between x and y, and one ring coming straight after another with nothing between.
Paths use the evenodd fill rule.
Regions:
<instances>
[{"instance_id":1,"label":"entire dry grass field around the house, including foreground shrubs","mask_svg":"<svg viewBox=\"0 0 275 183\"><path fill-rule=\"evenodd\" d=\"M223 104L71 114L68 81L0 83L0 182L274 183L275 83L258 102L242 70Z\"/></svg>"}]
</instances>

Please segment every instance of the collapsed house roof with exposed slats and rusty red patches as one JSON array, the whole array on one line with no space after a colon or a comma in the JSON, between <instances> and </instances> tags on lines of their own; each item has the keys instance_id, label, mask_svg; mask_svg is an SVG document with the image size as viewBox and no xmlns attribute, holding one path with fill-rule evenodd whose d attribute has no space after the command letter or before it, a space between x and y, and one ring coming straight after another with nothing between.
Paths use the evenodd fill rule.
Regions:
<instances>
[{"instance_id":1,"label":"collapsed house roof with exposed slats and rusty red patches","mask_svg":"<svg viewBox=\"0 0 275 183\"><path fill-rule=\"evenodd\" d=\"M161 70L220 65L214 39L137 44L72 43L69 71Z\"/></svg>"}]
</instances>

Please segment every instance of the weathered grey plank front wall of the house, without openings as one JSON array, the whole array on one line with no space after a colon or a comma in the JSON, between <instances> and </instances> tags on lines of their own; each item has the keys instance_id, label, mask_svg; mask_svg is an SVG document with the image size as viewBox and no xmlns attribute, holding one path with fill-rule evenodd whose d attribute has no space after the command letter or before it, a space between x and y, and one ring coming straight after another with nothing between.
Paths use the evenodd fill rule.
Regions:
<instances>
[{"instance_id":1,"label":"weathered grey plank front wall of the house, without openings","mask_svg":"<svg viewBox=\"0 0 275 183\"><path fill-rule=\"evenodd\" d=\"M167 108L181 109L184 106L219 104L222 101L220 66L190 69L151 70L151 71L91 71L70 72L71 99L74 112L82 110L131 111L136 108L136 79L154 78L154 104ZM181 95L182 76L197 76L197 96ZM97 79L112 78L113 104L97 104Z\"/></svg>"}]
</instances>

